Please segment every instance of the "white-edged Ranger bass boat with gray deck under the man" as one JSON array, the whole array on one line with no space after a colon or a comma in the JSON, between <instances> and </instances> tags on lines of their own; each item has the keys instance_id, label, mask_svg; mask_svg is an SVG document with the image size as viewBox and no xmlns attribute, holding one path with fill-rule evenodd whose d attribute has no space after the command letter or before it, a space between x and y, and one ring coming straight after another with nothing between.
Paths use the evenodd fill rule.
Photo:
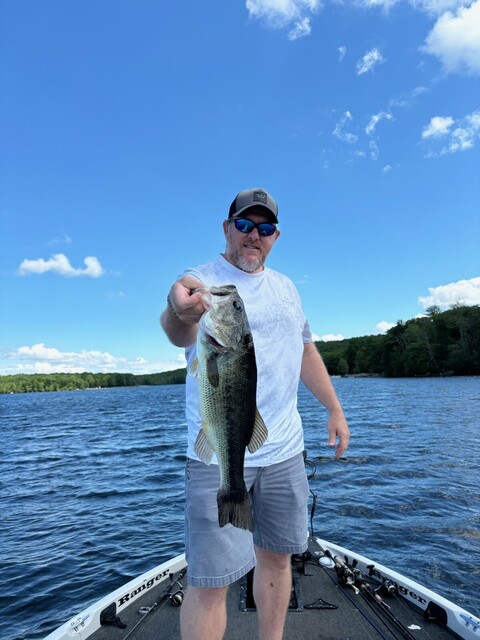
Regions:
<instances>
[{"instance_id":1,"label":"white-edged Ranger bass boat with gray deck under the man","mask_svg":"<svg viewBox=\"0 0 480 640\"><path fill-rule=\"evenodd\" d=\"M257 637L254 569L230 586L225 640ZM121 586L45 640L180 638L187 582L184 554ZM285 640L480 638L480 619L408 577L335 543L310 535L292 557Z\"/></svg>"}]
</instances>

